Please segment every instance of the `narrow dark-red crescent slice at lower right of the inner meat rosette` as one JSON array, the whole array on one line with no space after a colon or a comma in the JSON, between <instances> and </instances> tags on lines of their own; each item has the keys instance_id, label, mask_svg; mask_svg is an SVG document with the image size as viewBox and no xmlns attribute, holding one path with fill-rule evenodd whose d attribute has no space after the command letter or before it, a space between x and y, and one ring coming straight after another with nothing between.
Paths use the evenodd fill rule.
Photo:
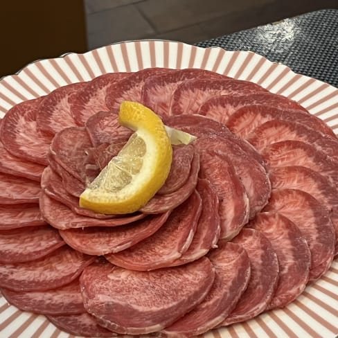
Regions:
<instances>
[{"instance_id":1,"label":"narrow dark-red crescent slice at lower right of the inner meat rosette","mask_svg":"<svg viewBox=\"0 0 338 338\"><path fill-rule=\"evenodd\" d=\"M207 179L198 179L197 193L202 198L202 213L197 222L193 241L188 250L175 260L171 266L193 262L206 255L212 248L217 247L220 238L220 216L218 215L218 196Z\"/></svg>"}]
</instances>

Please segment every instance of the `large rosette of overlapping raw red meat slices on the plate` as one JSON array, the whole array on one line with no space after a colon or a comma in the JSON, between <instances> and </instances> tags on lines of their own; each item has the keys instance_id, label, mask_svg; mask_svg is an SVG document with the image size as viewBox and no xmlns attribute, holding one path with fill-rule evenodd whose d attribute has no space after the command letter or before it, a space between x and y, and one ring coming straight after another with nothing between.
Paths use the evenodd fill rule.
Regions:
<instances>
[{"instance_id":1,"label":"large rosette of overlapping raw red meat slices on the plate","mask_svg":"<svg viewBox=\"0 0 338 338\"><path fill-rule=\"evenodd\" d=\"M123 100L197 136L132 215L78 197L131 131ZM73 335L192 337L283 308L338 252L338 140L298 103L199 69L109 73L12 107L0 287Z\"/></svg>"}]
</instances>

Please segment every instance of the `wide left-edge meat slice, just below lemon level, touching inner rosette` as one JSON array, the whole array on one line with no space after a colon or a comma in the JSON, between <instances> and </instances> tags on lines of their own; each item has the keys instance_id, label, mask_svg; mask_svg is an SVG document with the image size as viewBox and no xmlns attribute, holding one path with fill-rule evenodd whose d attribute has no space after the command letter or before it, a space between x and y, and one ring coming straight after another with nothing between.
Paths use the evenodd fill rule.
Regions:
<instances>
[{"instance_id":1,"label":"wide left-edge meat slice, just below lemon level, touching inner rosette","mask_svg":"<svg viewBox=\"0 0 338 338\"><path fill-rule=\"evenodd\" d=\"M49 225L0 231L0 262L22 263L42 258L64 245Z\"/></svg>"}]
</instances>

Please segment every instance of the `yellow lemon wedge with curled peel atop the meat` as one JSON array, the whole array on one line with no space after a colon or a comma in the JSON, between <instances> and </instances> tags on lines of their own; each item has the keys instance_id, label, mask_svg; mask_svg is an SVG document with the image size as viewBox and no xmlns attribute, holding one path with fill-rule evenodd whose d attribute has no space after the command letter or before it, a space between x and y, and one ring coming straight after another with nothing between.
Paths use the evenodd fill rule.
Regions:
<instances>
[{"instance_id":1,"label":"yellow lemon wedge with curled peel atop the meat","mask_svg":"<svg viewBox=\"0 0 338 338\"><path fill-rule=\"evenodd\" d=\"M172 145L157 114L140 103L125 101L118 121L134 134L80 195L80 206L97 213L139 210L163 186L170 171Z\"/></svg>"}]
</instances>

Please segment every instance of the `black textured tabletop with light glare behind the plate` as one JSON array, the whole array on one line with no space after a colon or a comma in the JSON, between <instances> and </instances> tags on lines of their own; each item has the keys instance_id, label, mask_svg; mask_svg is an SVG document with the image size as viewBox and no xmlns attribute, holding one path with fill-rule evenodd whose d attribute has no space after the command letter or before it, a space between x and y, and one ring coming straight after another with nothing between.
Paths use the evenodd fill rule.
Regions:
<instances>
[{"instance_id":1,"label":"black textured tabletop with light glare behind the plate","mask_svg":"<svg viewBox=\"0 0 338 338\"><path fill-rule=\"evenodd\" d=\"M253 51L338 87L338 10L318 10L196 45Z\"/></svg>"}]
</instances>

